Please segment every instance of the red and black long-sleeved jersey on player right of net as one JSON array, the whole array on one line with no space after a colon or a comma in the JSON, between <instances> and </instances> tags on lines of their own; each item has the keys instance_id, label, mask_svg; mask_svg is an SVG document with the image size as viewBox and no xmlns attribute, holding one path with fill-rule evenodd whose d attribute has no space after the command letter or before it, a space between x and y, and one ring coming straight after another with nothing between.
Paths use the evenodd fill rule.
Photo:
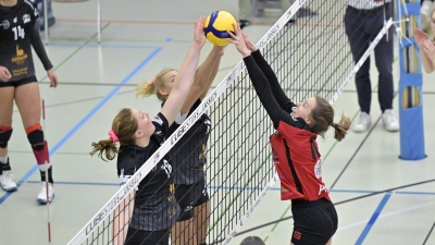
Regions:
<instances>
[{"instance_id":1,"label":"red and black long-sleeved jersey on player right of net","mask_svg":"<svg viewBox=\"0 0 435 245\"><path fill-rule=\"evenodd\" d=\"M282 199L330 199L322 182L316 134L303 119L290 115L296 105L285 95L260 51L252 52L244 61L253 88L277 131L270 139Z\"/></svg>"}]
</instances>

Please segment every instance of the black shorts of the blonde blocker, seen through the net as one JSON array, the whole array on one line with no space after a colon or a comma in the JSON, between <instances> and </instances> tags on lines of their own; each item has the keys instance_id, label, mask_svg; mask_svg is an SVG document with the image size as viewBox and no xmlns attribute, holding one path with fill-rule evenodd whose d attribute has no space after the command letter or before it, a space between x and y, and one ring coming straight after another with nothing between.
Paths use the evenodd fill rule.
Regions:
<instances>
[{"instance_id":1,"label":"black shorts of the blonde blocker, seen through the net","mask_svg":"<svg viewBox=\"0 0 435 245\"><path fill-rule=\"evenodd\" d=\"M191 185L176 184L175 198L182 208L182 215L179 215L177 221L185 221L194 218L194 208L209 201L206 179L201 177L201 181Z\"/></svg>"}]
</instances>

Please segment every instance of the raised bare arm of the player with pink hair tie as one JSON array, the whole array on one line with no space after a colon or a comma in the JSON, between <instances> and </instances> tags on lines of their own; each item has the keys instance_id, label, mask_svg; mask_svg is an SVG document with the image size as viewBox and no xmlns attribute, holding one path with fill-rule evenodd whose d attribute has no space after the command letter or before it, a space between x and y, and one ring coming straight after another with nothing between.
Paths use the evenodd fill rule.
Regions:
<instances>
[{"instance_id":1,"label":"raised bare arm of the player with pink hair tie","mask_svg":"<svg viewBox=\"0 0 435 245\"><path fill-rule=\"evenodd\" d=\"M176 115L179 113L187 94L190 89L190 83L194 79L196 69L199 62L199 56L203 45L206 44L206 36L203 35L204 16L200 16L199 21L195 23L195 37L187 51L186 58L177 75L175 76L174 85L171 94L167 97L161 112L167 119L169 125L172 125Z\"/></svg>"}]
</instances>

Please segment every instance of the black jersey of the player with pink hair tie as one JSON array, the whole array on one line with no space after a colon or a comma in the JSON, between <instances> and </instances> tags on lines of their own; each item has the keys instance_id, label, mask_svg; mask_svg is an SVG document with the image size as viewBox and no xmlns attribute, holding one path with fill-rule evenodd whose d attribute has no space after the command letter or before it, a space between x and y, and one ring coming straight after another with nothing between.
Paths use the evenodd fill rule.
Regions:
<instances>
[{"instance_id":1,"label":"black jersey of the player with pink hair tie","mask_svg":"<svg viewBox=\"0 0 435 245\"><path fill-rule=\"evenodd\" d=\"M164 135L167 132L166 118L159 113L153 118L152 123L156 131L147 147L137 145L120 147L117 175L121 184L127 182L164 142ZM144 231L161 231L175 223L179 208L174 198L171 172L171 164L162 159L139 183L130 226Z\"/></svg>"}]
</instances>

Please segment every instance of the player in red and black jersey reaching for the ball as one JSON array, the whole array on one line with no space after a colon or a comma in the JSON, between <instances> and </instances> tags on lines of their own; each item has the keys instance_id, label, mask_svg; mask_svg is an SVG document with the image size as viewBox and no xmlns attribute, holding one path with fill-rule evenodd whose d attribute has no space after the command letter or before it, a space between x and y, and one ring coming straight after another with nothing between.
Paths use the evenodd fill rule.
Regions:
<instances>
[{"instance_id":1,"label":"player in red and black jersey reaching for the ball","mask_svg":"<svg viewBox=\"0 0 435 245\"><path fill-rule=\"evenodd\" d=\"M260 50L235 26L236 35L227 32L244 57L257 95L272 119L276 132L271 136L272 156L279 175L281 198L291 199L294 231L291 244L327 244L337 231L337 212L322 181L321 156L315 142L330 126L334 138L341 140L350 120L341 115L334 123L333 107L321 97L295 105L285 95L272 68Z\"/></svg>"}]
</instances>

